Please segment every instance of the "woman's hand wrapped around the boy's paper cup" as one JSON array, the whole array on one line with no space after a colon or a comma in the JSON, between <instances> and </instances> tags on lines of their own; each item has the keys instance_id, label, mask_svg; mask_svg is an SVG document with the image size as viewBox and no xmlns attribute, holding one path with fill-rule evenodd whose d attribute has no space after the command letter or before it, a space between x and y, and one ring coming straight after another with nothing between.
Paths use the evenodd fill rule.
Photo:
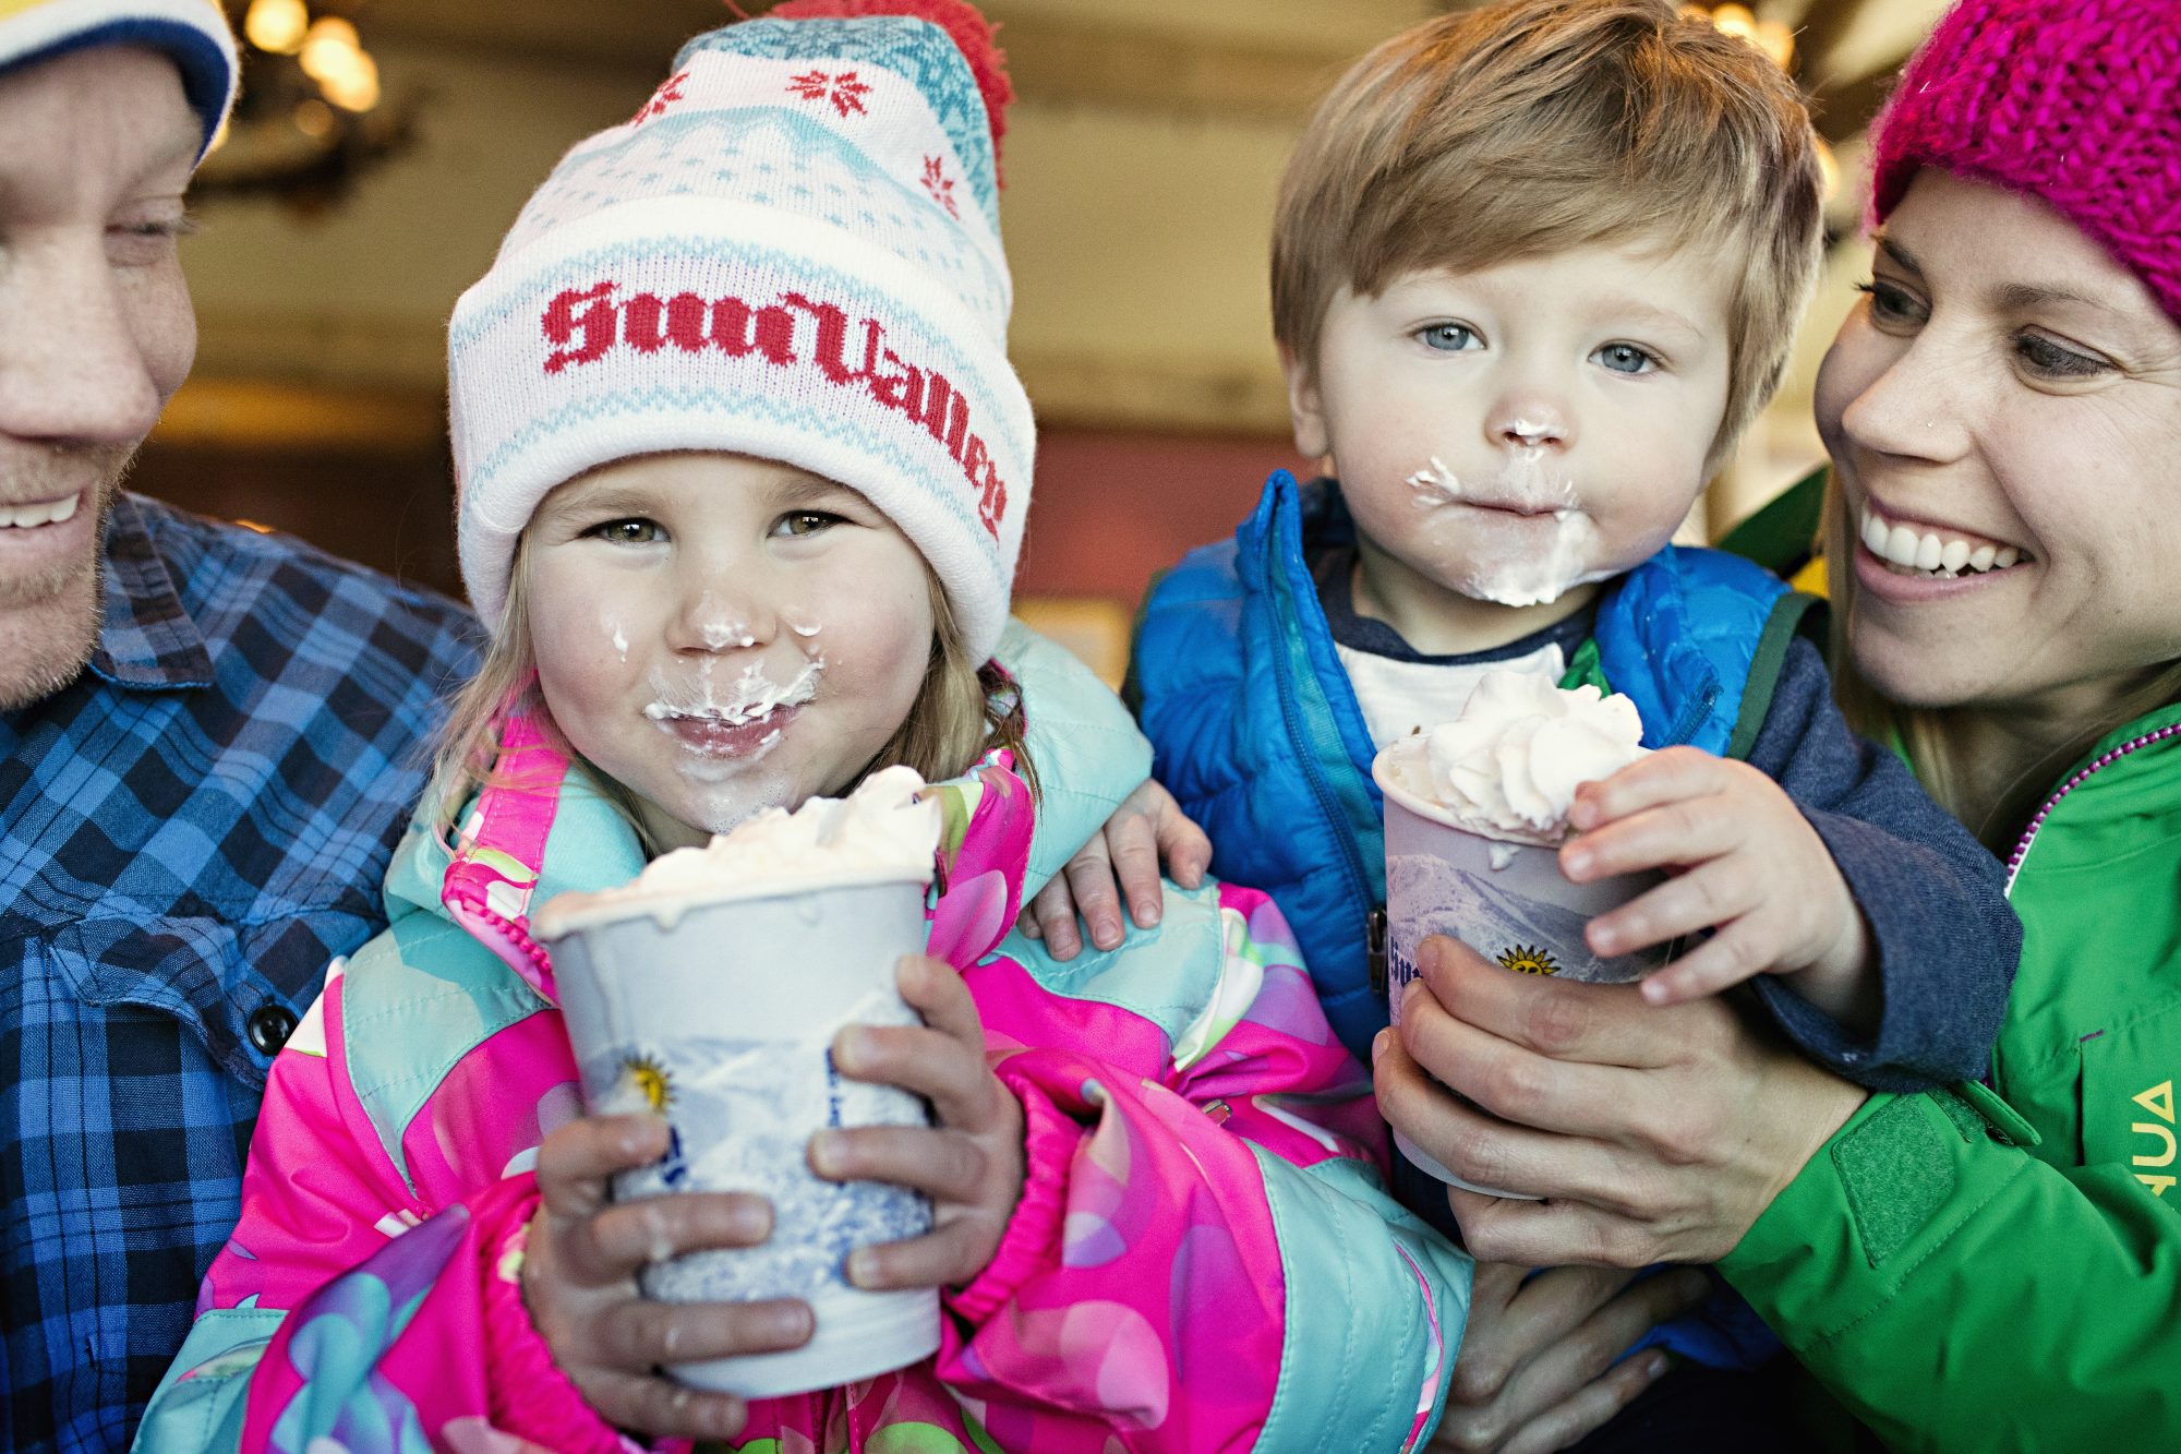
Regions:
<instances>
[{"instance_id":1,"label":"woman's hand wrapped around the boy's paper cup","mask_svg":"<svg viewBox=\"0 0 2181 1454\"><path fill-rule=\"evenodd\" d=\"M1463 1181L1546 1199L1448 1190L1485 1262L1716 1262L1865 1096L1721 1000L1509 974L1444 937L1418 969L1372 1048L1381 1111Z\"/></svg>"}]
</instances>

